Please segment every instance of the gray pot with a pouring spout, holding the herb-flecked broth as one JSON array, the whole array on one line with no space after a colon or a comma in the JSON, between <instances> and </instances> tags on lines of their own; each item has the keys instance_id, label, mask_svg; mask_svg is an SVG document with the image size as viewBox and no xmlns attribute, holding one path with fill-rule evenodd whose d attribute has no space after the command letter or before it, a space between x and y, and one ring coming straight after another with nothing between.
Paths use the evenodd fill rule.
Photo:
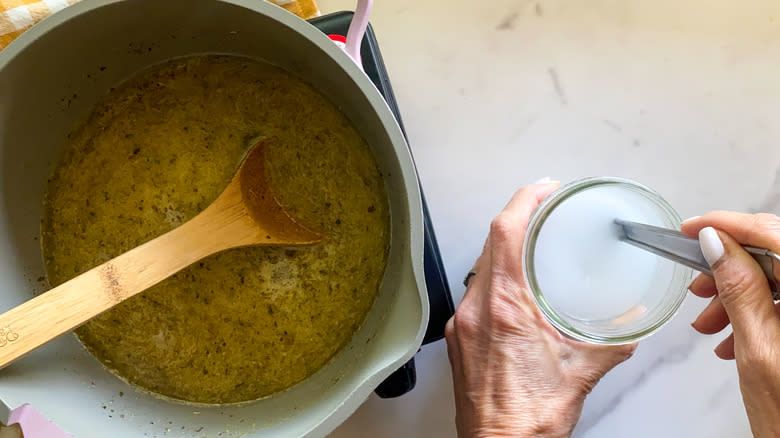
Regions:
<instances>
[{"instance_id":1,"label":"gray pot with a pouring spout, holding the herb-flecked broth","mask_svg":"<svg viewBox=\"0 0 780 438\"><path fill-rule=\"evenodd\" d=\"M41 200L74 124L133 73L173 57L215 52L264 59L313 84L374 151L386 175L392 243L364 326L309 379L257 402L222 407L137 392L69 334L0 371L6 404L31 403L78 437L321 436L419 348L428 320L422 213L403 135L352 60L314 27L259 0L84 0L0 52L2 310L46 289Z\"/></svg>"}]
</instances>

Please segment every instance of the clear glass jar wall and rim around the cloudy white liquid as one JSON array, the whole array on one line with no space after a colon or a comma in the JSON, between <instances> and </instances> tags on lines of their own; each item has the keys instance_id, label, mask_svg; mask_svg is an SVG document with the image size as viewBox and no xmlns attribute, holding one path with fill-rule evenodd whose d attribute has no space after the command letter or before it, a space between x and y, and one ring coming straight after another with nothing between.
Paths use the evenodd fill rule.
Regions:
<instances>
[{"instance_id":1,"label":"clear glass jar wall and rim around the cloudy white liquid","mask_svg":"<svg viewBox=\"0 0 780 438\"><path fill-rule=\"evenodd\" d=\"M649 201L648 205L656 210L655 214L661 218L662 223L654 225L680 228L680 216L674 208L658 193L644 185L613 177L580 179L552 193L531 215L523 244L523 272L537 306L550 323L565 336L592 344L627 344L655 333L677 313L687 294L691 269L659 257L658 266L663 269L657 268L653 274L653 280L659 282L658 287L649 290L634 303L632 309L639 311L604 318L583 318L573 315L573 312L564 311L561 308L563 306L556 308L551 300L545 298L536 275L534 257L537 238L553 210L578 193L604 186L631 191L631 196L641 195ZM562 266L561 275L565 274L565 267Z\"/></svg>"}]
</instances>

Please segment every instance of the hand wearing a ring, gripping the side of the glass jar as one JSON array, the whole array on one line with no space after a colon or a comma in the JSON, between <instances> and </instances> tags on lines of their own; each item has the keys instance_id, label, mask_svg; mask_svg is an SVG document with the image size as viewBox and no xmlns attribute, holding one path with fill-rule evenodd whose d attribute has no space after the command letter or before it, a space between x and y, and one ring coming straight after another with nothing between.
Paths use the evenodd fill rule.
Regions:
<instances>
[{"instance_id":1,"label":"hand wearing a ring, gripping the side of the glass jar","mask_svg":"<svg viewBox=\"0 0 780 438\"><path fill-rule=\"evenodd\" d=\"M523 277L523 240L534 208L558 186L519 190L493 220L476 274L447 323L461 437L569 436L585 396L636 347L568 339L536 307Z\"/></svg>"}]
</instances>

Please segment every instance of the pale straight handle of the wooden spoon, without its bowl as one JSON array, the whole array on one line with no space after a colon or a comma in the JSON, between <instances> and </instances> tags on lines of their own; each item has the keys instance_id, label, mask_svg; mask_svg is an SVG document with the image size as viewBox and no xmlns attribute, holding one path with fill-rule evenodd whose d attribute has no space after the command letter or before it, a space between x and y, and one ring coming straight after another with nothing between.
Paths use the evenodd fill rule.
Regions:
<instances>
[{"instance_id":1,"label":"pale straight handle of the wooden spoon, without its bowl","mask_svg":"<svg viewBox=\"0 0 780 438\"><path fill-rule=\"evenodd\" d=\"M205 213L0 315L0 368L203 257L235 246L219 229L224 223Z\"/></svg>"}]
</instances>

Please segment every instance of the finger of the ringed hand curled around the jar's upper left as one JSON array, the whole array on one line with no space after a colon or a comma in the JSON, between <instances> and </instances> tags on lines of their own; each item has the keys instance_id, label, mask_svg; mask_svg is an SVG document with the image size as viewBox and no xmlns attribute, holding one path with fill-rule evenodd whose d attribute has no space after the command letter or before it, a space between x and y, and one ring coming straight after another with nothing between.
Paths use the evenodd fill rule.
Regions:
<instances>
[{"instance_id":1,"label":"finger of the ringed hand curled around the jar's upper left","mask_svg":"<svg viewBox=\"0 0 780 438\"><path fill-rule=\"evenodd\" d=\"M520 282L522 249L528 219L544 198L560 183L532 184L515 192L503 211L490 224L491 268L508 273Z\"/></svg>"}]
</instances>

